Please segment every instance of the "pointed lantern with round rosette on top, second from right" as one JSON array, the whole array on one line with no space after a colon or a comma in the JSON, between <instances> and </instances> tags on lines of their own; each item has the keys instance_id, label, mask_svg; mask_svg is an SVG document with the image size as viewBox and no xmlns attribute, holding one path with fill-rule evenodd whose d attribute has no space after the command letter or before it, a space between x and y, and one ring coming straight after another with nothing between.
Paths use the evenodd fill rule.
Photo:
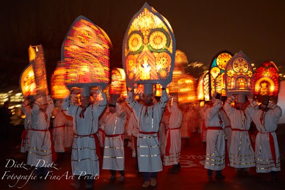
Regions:
<instances>
[{"instance_id":1,"label":"pointed lantern with round rosette on top, second from right","mask_svg":"<svg viewBox=\"0 0 285 190\"><path fill-rule=\"evenodd\" d=\"M233 94L250 94L253 69L250 60L242 51L228 61L225 72L227 97Z\"/></svg>"}]
</instances>

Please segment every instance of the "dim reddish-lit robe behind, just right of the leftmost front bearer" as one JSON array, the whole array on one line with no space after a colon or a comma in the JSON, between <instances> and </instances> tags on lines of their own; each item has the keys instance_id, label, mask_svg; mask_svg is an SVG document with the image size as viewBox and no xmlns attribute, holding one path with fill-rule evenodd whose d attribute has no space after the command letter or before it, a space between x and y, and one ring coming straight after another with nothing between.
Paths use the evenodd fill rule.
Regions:
<instances>
[{"instance_id":1,"label":"dim reddish-lit robe behind, just right of the leftmost front bearer","mask_svg":"<svg viewBox=\"0 0 285 190\"><path fill-rule=\"evenodd\" d=\"M54 109L53 111L53 129L52 129L52 139L55 152L64 152L64 128L66 119L64 113L60 109Z\"/></svg>"}]
</instances>

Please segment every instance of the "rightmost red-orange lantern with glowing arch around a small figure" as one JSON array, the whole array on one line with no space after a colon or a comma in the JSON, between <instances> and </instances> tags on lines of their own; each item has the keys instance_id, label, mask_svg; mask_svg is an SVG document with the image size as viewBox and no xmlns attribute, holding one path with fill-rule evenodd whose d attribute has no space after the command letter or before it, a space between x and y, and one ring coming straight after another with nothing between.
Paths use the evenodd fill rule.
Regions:
<instances>
[{"instance_id":1,"label":"rightmost red-orange lantern with glowing arch around a small figure","mask_svg":"<svg viewBox=\"0 0 285 190\"><path fill-rule=\"evenodd\" d=\"M279 70L273 61L262 63L251 79L251 90L254 96L277 97L279 85Z\"/></svg>"}]
</instances>

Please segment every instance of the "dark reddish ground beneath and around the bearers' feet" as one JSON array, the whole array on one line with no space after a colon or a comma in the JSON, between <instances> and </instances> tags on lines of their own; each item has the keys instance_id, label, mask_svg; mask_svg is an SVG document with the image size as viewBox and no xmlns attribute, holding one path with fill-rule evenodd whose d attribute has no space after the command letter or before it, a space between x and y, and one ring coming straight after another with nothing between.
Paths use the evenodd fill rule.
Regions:
<instances>
[{"instance_id":1,"label":"dark reddish ground beneath and around the bearers' feet","mask_svg":"<svg viewBox=\"0 0 285 190\"><path fill-rule=\"evenodd\" d=\"M189 146L181 147L181 170L179 173L169 173L168 167L163 166L163 171L158 173L157 187L155 189L285 189L285 125L279 125L276 131L280 150L281 171L277 173L278 180L273 181L269 173L256 173L255 168L243 176L237 176L232 167L226 166L223 174L226 179L223 181L207 182L207 170L204 169L204 159L206 145L200 142L200 136L197 134L191 139ZM71 176L71 153L60 153L56 161L57 168L51 168L52 177L61 177L57 179L7 179L4 176L12 174L28 177L32 169L5 167L7 159L13 159L18 163L27 162L27 153L20 153L21 134L23 126L11 127L9 134L1 139L0 148L0 189L72 189L69 185ZM11 163L11 162L10 162ZM101 160L102 164L102 160ZM131 157L130 148L125 148L125 181L124 183L109 182L109 171L100 171L99 179L94 183L94 189L142 189L142 175L136 173L135 158ZM119 177L119 174L117 174ZM27 182L27 183L26 183ZM26 184L25 184L26 183ZM10 186L12 187L10 187ZM15 185L15 186L14 186ZM154 187L149 187L153 188ZM80 189L84 189L84 181L81 180Z\"/></svg>"}]
</instances>

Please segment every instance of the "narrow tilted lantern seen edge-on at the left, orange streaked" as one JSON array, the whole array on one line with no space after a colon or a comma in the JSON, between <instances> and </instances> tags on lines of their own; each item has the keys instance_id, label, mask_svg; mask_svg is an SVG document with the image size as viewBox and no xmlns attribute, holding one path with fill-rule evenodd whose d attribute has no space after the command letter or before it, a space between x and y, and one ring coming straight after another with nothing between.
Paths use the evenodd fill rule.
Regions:
<instances>
[{"instance_id":1,"label":"narrow tilted lantern seen edge-on at the left, orange streaked","mask_svg":"<svg viewBox=\"0 0 285 190\"><path fill-rule=\"evenodd\" d=\"M45 97L49 92L43 46L30 46L28 53L30 64L33 65L37 93Z\"/></svg>"}]
</instances>

